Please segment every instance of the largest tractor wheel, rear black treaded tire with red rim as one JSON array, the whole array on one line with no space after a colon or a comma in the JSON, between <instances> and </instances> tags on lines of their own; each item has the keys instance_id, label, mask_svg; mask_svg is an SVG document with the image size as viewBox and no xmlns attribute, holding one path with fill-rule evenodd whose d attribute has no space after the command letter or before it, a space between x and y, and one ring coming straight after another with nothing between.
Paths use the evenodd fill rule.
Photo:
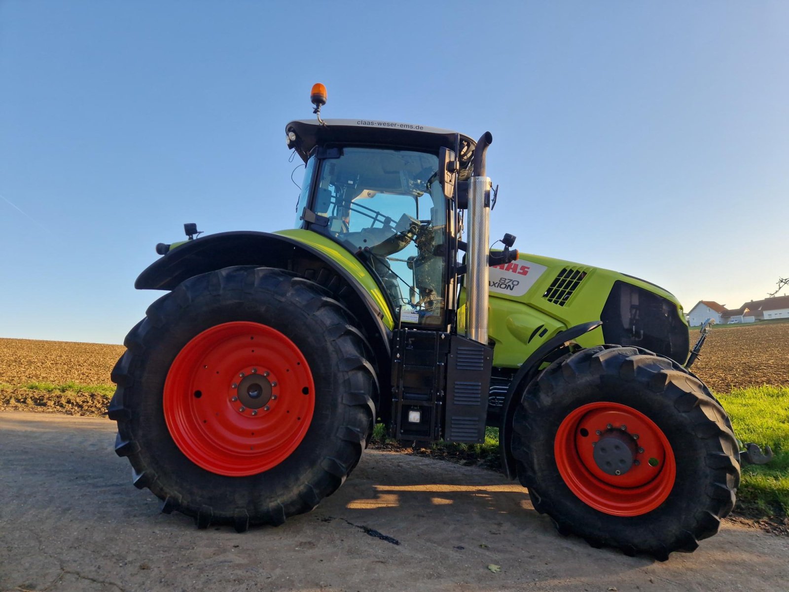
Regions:
<instances>
[{"instance_id":1,"label":"largest tractor wheel, rear black treaded tire with red rim","mask_svg":"<svg viewBox=\"0 0 789 592\"><path fill-rule=\"evenodd\" d=\"M356 324L327 290L272 268L198 275L159 298L112 373L134 485L201 528L315 508L372 433L377 377Z\"/></svg>"}]
</instances>

